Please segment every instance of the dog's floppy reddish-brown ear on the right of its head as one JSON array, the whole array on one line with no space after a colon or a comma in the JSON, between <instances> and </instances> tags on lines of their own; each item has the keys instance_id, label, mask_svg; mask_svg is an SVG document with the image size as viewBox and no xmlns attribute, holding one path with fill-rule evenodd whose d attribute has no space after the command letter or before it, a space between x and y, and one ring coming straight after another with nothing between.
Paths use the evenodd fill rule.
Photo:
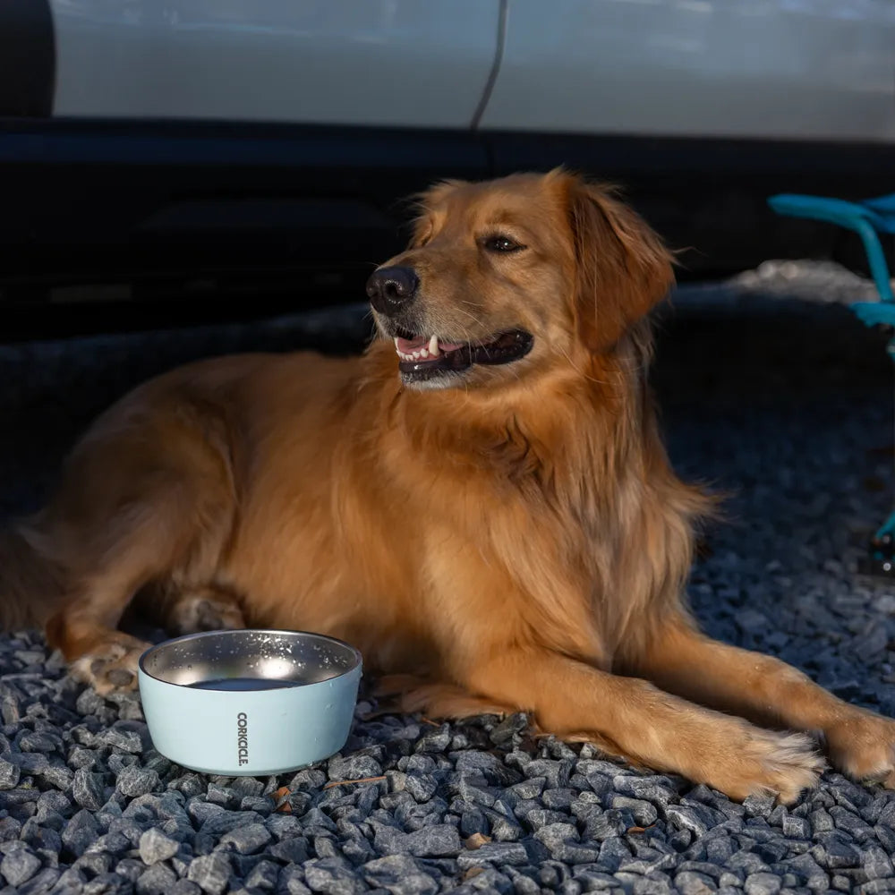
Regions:
<instances>
[{"instance_id":1,"label":"dog's floppy reddish-brown ear on the right of its head","mask_svg":"<svg viewBox=\"0 0 895 895\"><path fill-rule=\"evenodd\" d=\"M605 352L668 294L672 256L611 188L564 179L575 241L575 326L587 348Z\"/></svg>"}]
</instances>

